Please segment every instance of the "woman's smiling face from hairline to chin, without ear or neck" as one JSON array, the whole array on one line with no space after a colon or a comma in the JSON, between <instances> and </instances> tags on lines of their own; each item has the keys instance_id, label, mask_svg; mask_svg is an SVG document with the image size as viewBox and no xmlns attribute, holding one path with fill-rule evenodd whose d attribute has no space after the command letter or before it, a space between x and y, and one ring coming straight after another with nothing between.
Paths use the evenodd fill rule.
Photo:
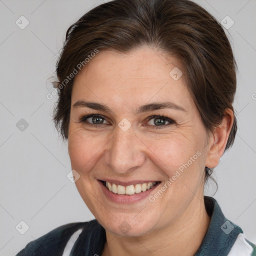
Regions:
<instances>
[{"instance_id":1,"label":"woman's smiling face from hairline to chin, without ear or neck","mask_svg":"<svg viewBox=\"0 0 256 256\"><path fill-rule=\"evenodd\" d=\"M184 76L178 59L144 46L129 54L99 51L75 77L71 167L82 199L110 232L157 231L202 203L209 144ZM88 114L98 116L79 119ZM100 180L115 183L115 193Z\"/></svg>"}]
</instances>

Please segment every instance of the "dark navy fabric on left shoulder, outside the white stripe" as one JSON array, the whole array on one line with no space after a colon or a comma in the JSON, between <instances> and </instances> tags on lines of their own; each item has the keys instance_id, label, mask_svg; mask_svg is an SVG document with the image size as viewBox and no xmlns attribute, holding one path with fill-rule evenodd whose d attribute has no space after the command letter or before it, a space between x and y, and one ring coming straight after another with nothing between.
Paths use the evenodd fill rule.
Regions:
<instances>
[{"instance_id":1,"label":"dark navy fabric on left shoulder, outside the white stripe","mask_svg":"<svg viewBox=\"0 0 256 256\"><path fill-rule=\"evenodd\" d=\"M73 234L78 236L82 230L95 225L95 221L96 220L93 219L87 222L73 222L58 226L39 238L27 243L16 256L62 255L70 237Z\"/></svg>"}]
</instances>

